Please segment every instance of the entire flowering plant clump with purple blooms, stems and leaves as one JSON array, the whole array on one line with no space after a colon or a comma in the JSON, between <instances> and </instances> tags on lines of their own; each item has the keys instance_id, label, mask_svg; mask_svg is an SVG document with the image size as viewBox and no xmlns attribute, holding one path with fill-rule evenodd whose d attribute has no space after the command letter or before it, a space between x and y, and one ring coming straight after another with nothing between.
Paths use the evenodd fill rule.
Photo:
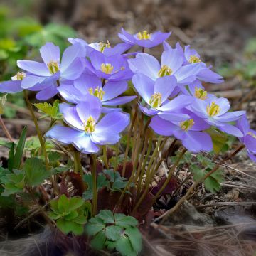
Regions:
<instances>
[{"instance_id":1,"label":"entire flowering plant clump with purple blooms, stems and leaves","mask_svg":"<svg viewBox=\"0 0 256 256\"><path fill-rule=\"evenodd\" d=\"M11 81L0 83L0 92L23 91L40 149L31 151L32 160L23 163L26 132L17 145L12 141L12 159L8 169L1 169L2 195L26 191L39 202L33 193L44 196L41 184L48 179L53 186L50 199L44 198L46 203L51 200L50 213L43 214L48 223L65 234L94 236L96 249L137 255L142 239L136 226L161 196L174 191L170 184L175 183L174 172L186 151L198 155L216 151L216 141L221 147L216 137L230 134L241 144L223 161L244 147L256 161L256 132L245 111L230 111L227 99L203 87L203 82L218 84L223 78L191 46L171 47L166 42L170 34L130 34L122 29L118 36L123 42L116 46L68 38L72 45L61 60L53 43L42 46L42 62L18 60L21 70ZM164 50L159 62L145 52L160 44ZM133 52L134 46L142 50ZM37 100L48 100L34 105L50 120L46 132L38 127L28 91L36 91ZM162 153L168 140L172 143L167 151L175 150L176 156L166 176L159 178L156 173L165 161ZM54 146L49 149L48 142L68 156L69 164ZM88 168L82 164L85 156L90 159ZM201 182L210 191L218 190L223 161L216 165L206 161L208 165L200 167L203 171L193 169L191 190Z\"/></svg>"}]
</instances>

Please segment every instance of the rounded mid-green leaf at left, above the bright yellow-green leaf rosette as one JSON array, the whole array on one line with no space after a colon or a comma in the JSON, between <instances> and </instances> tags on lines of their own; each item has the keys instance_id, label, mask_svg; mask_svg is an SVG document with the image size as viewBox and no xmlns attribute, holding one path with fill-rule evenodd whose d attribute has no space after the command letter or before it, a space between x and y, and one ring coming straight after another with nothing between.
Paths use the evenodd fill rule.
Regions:
<instances>
[{"instance_id":1,"label":"rounded mid-green leaf at left, above the bright yellow-green leaf rosette","mask_svg":"<svg viewBox=\"0 0 256 256\"><path fill-rule=\"evenodd\" d=\"M26 159L23 166L28 186L37 186L50 176L42 161L37 158Z\"/></svg>"}]
</instances>

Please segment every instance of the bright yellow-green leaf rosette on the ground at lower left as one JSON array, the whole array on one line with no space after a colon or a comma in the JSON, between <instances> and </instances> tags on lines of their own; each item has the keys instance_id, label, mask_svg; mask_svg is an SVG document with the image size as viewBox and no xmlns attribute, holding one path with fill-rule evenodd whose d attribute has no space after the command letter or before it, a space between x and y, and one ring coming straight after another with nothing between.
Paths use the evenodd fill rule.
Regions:
<instances>
[{"instance_id":1,"label":"bright yellow-green leaf rosette on the ground at lower left","mask_svg":"<svg viewBox=\"0 0 256 256\"><path fill-rule=\"evenodd\" d=\"M91 205L79 197L67 198L61 195L50 201L49 217L56 220L57 227L64 233L82 235L87 218L90 218Z\"/></svg>"}]
</instances>

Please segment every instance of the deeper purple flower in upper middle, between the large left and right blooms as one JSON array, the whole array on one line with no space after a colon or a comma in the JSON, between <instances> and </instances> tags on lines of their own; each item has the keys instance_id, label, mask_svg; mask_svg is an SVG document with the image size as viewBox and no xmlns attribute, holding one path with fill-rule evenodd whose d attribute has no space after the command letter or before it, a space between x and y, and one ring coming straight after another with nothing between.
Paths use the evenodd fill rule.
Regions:
<instances>
[{"instance_id":1,"label":"deeper purple flower in upper middle, between the large left and right blooms","mask_svg":"<svg viewBox=\"0 0 256 256\"><path fill-rule=\"evenodd\" d=\"M93 50L90 53L90 61L86 60L86 68L90 73L106 80L117 81L132 78L132 71L129 69L127 58L122 55L106 56Z\"/></svg>"}]
</instances>

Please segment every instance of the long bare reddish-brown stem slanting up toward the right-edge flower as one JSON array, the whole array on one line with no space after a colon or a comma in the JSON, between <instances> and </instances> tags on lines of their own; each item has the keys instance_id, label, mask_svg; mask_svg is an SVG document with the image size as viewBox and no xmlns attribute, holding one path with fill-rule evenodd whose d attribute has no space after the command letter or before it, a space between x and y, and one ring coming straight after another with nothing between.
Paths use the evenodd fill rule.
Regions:
<instances>
[{"instance_id":1,"label":"long bare reddish-brown stem slanting up toward the right-edge flower","mask_svg":"<svg viewBox=\"0 0 256 256\"><path fill-rule=\"evenodd\" d=\"M156 218L156 220L154 220L155 222L158 220L161 220L161 223L164 222L164 220L166 220L166 218L171 215L172 213L174 213L181 205L184 201L186 201L186 199L188 198L188 196L192 193L193 189L196 188L196 186L198 186L199 183L203 182L206 180L206 178L208 178L210 175L212 175L215 171L218 170L219 166L221 164L224 164L225 161L228 161L229 159L232 159L233 156L235 156L236 154L238 154L239 151L241 151L242 149L245 148L245 145L240 145L238 146L237 149L235 149L235 151L233 151L232 153L230 153L225 159L223 159L222 161L218 162L218 164L215 165L215 167L209 171L205 176L203 176L203 178L201 178L199 181L194 181L192 186L188 189L187 193L185 196L183 196L178 203L176 203L176 205L171 208L170 210L167 210L166 213L164 213L163 215L161 215L159 218Z\"/></svg>"}]
</instances>

